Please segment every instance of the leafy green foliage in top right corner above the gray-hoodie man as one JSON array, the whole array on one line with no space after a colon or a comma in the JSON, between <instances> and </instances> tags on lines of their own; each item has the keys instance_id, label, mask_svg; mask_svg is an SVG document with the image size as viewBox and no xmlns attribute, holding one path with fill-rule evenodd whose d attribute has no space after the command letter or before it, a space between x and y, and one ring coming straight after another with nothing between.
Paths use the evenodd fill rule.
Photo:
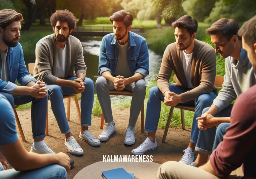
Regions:
<instances>
[{"instance_id":1,"label":"leafy green foliage in top right corner above the gray-hoodie man","mask_svg":"<svg viewBox=\"0 0 256 179\"><path fill-rule=\"evenodd\" d=\"M255 0L221 0L215 3L205 22L214 23L222 17L235 19L238 23L249 20L256 14Z\"/></svg>"}]
</instances>

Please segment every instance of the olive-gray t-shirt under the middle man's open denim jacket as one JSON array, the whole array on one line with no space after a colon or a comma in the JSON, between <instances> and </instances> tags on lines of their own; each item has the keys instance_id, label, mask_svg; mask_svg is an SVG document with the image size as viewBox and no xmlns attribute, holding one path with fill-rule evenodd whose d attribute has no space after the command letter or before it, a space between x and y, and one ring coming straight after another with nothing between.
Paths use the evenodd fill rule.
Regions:
<instances>
[{"instance_id":1,"label":"olive-gray t-shirt under the middle man's open denim jacket","mask_svg":"<svg viewBox=\"0 0 256 179\"><path fill-rule=\"evenodd\" d=\"M127 63L127 48L129 47L129 42L125 45L118 44L119 48L119 55L118 55L118 62L114 72L114 75L121 75L123 77L130 77L131 72Z\"/></svg>"}]
</instances>

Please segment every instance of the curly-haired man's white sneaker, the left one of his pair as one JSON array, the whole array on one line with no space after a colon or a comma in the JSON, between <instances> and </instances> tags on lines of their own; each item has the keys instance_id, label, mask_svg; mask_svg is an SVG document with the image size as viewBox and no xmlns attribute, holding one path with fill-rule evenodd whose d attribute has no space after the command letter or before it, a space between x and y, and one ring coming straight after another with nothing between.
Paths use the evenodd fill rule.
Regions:
<instances>
[{"instance_id":1,"label":"curly-haired man's white sneaker, the left one of his pair","mask_svg":"<svg viewBox=\"0 0 256 179\"><path fill-rule=\"evenodd\" d=\"M74 136L68 137L65 140L64 145L67 147L68 152L73 155L82 155L84 153L82 147L77 143Z\"/></svg>"}]
</instances>

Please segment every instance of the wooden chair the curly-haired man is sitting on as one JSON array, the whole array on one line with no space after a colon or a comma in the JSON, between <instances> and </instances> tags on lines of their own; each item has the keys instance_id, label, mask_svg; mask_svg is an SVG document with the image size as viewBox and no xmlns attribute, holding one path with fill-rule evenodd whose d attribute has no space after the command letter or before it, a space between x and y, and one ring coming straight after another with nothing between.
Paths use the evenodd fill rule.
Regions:
<instances>
[{"instance_id":1,"label":"wooden chair the curly-haired man is sitting on","mask_svg":"<svg viewBox=\"0 0 256 179\"><path fill-rule=\"evenodd\" d=\"M33 74L34 67L35 67L35 63L29 63L28 70L29 70L29 73L31 75ZM77 115L78 115L79 121L81 122L81 112L80 112L80 108L79 108L79 104L78 104L77 94L63 96L63 99L66 99L66 98L67 98L67 121L70 120L70 101L71 101L71 98L73 98L73 100L75 101L75 106L77 107ZM49 100L50 99L48 99L48 101ZM48 128L48 103L47 103L45 134L49 135L49 128Z\"/></svg>"}]
</instances>

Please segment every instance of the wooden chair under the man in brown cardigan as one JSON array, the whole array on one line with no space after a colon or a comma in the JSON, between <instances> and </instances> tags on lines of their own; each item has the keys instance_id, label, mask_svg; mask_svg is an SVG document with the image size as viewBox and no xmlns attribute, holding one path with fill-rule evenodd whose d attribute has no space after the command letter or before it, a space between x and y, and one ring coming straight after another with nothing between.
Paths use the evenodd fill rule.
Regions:
<instances>
[{"instance_id":1,"label":"wooden chair under the man in brown cardigan","mask_svg":"<svg viewBox=\"0 0 256 179\"><path fill-rule=\"evenodd\" d=\"M178 82L178 78L176 77L176 75L174 75L173 79L175 82ZM224 77L216 75L214 84L218 87L222 87L223 82L224 82ZM189 110L189 111L193 111L193 112L195 111L195 107L193 107L193 106L186 106L186 105L182 105L182 104L178 104L176 106L171 106L169 116L168 116L168 119L166 122L165 130L164 130L162 143L165 143L174 108L181 109L181 125L182 125L183 130L185 129L184 110Z\"/></svg>"}]
</instances>

